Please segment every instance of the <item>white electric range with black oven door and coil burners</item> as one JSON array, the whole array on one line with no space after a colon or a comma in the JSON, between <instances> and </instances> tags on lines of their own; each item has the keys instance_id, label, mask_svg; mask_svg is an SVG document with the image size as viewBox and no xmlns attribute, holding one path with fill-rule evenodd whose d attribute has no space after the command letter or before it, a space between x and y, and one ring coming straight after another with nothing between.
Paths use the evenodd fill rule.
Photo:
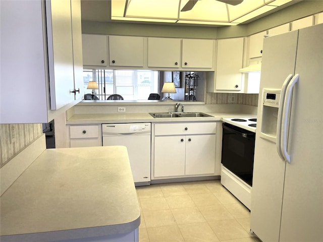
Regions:
<instances>
[{"instance_id":1,"label":"white electric range with black oven door and coil burners","mask_svg":"<svg viewBox=\"0 0 323 242\"><path fill-rule=\"evenodd\" d=\"M257 119L223 118L221 184L249 210Z\"/></svg>"}]
</instances>

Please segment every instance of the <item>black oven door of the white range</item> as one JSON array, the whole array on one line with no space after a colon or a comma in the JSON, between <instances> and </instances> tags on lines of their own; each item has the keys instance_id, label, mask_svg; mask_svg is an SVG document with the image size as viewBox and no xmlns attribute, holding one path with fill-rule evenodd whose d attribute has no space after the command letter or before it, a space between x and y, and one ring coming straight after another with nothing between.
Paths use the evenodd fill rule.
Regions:
<instances>
[{"instance_id":1,"label":"black oven door of the white range","mask_svg":"<svg viewBox=\"0 0 323 242\"><path fill-rule=\"evenodd\" d=\"M255 133L223 123L221 163L252 186Z\"/></svg>"}]
</instances>

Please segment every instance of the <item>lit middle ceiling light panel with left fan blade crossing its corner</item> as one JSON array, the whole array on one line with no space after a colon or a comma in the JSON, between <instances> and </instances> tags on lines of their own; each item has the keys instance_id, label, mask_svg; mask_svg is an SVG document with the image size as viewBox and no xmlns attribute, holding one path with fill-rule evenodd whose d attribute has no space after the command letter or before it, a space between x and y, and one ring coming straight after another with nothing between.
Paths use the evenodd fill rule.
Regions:
<instances>
[{"instance_id":1,"label":"lit middle ceiling light panel with left fan blade crossing its corner","mask_svg":"<svg viewBox=\"0 0 323 242\"><path fill-rule=\"evenodd\" d=\"M175 1L176 2L176 1ZM182 1L182 9L187 1ZM181 20L228 22L227 6L215 0L200 0L190 11L180 12Z\"/></svg>"}]
</instances>

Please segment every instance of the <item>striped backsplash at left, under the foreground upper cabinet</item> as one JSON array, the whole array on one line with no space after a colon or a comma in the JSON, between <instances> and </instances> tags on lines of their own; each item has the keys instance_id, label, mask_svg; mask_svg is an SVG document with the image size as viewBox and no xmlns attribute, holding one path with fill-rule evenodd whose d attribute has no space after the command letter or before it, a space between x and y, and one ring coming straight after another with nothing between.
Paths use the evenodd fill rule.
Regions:
<instances>
[{"instance_id":1,"label":"striped backsplash at left, under the foreground upper cabinet","mask_svg":"<svg viewBox=\"0 0 323 242\"><path fill-rule=\"evenodd\" d=\"M0 125L1 167L41 135L42 124Z\"/></svg>"}]
</instances>

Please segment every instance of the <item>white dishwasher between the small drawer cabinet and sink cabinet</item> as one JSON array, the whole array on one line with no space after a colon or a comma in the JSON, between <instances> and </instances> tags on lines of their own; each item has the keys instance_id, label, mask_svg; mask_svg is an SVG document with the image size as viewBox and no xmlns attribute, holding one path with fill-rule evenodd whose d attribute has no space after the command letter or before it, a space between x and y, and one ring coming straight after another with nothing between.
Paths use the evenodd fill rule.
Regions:
<instances>
[{"instance_id":1,"label":"white dishwasher between the small drawer cabinet and sink cabinet","mask_svg":"<svg viewBox=\"0 0 323 242\"><path fill-rule=\"evenodd\" d=\"M102 124L102 145L123 145L128 155L136 186L150 184L151 124Z\"/></svg>"}]
</instances>

